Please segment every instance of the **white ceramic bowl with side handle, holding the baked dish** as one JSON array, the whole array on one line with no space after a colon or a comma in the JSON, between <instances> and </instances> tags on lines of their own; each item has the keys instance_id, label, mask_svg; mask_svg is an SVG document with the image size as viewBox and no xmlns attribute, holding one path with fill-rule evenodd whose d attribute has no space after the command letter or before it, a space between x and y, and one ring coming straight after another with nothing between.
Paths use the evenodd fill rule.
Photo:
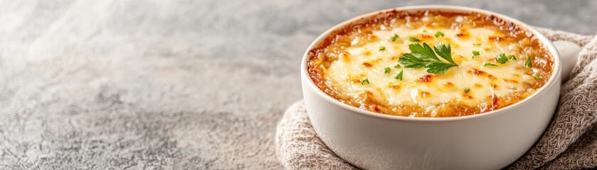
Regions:
<instances>
[{"instance_id":1,"label":"white ceramic bowl with side handle, holding the baked dish","mask_svg":"<svg viewBox=\"0 0 597 170\"><path fill-rule=\"evenodd\" d=\"M529 30L554 57L554 73L535 94L496 111L455 118L409 118L364 111L320 90L307 72L307 53L332 30L384 11L457 11L497 16ZM325 144L363 169L500 169L521 157L541 137L557 106L562 63L568 75L580 47L552 43L537 30L499 13L461 6L406 6L367 13L338 24L307 49L301 65L309 118ZM556 50L559 47L561 53ZM564 57L564 58L561 58ZM564 60L563 60L564 59Z\"/></svg>"}]
</instances>

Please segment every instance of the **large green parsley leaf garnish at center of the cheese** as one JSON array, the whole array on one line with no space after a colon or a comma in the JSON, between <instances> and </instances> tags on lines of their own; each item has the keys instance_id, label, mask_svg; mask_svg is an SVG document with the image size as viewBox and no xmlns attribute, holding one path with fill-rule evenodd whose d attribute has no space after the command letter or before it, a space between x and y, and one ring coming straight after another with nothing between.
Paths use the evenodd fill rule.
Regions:
<instances>
[{"instance_id":1,"label":"large green parsley leaf garnish at center of the cheese","mask_svg":"<svg viewBox=\"0 0 597 170\"><path fill-rule=\"evenodd\" d=\"M408 49L410 49L412 53L406 53L398 59L398 62L403 64L406 68L418 69L425 67L427 68L428 73L445 74L445 72L448 72L448 69L458 66L458 64L452 60L452 47L450 47L450 44L444 45L441 42L438 43L438 45L433 47L435 52L433 52L433 49L431 49L426 42L423 42L423 45L408 45ZM435 53L437 53L437 55L435 55ZM438 55L448 62L440 60Z\"/></svg>"}]
</instances>

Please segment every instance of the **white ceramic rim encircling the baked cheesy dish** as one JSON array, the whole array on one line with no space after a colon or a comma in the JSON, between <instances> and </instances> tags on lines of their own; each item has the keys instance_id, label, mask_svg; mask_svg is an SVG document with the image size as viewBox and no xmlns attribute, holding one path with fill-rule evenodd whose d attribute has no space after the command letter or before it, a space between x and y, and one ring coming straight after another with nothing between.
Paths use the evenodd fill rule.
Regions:
<instances>
[{"instance_id":1,"label":"white ceramic rim encircling the baked cheesy dish","mask_svg":"<svg viewBox=\"0 0 597 170\"><path fill-rule=\"evenodd\" d=\"M541 45L544 45L544 47L546 47L549 50L549 52L551 53L551 56L554 57L554 72L551 73L550 79L549 79L549 81L547 81L546 84L541 86L541 88L539 88L531 96L524 98L522 101L518 101L517 103L514 103L510 106L506 106L504 108L499 108L494 111L489 111L489 112L475 114L475 115L464 115L464 116L448 117L448 118L408 117L408 116L400 116L400 115L387 115L384 113L376 113L376 112L372 112L372 111L362 110L360 108L350 106L347 103L342 103L342 102L338 101L336 98L333 98L332 96L327 95L326 93L324 93L324 91L319 89L319 87L317 85L315 85L315 83L312 81L311 77L309 76L309 72L307 72L307 62L309 60L309 55L308 55L309 52L316 45L318 45L319 42L324 40L324 38L327 38L327 36L330 33L332 33L332 31L337 30L343 26L347 26L349 23L358 21L361 18L374 16L379 13L384 13L384 12L389 12L389 11L426 11L426 10L463 12L463 13L470 13L470 12L484 13L487 15L496 16L497 18L501 18L505 21L515 23L517 26L521 26L522 28L530 31L534 36L536 36L539 39L539 41L541 42ZM313 42L309 45L309 47L307 47L307 50L305 51L305 54L302 57L300 69L301 69L300 70L301 79L303 81L302 86L305 86L305 84L306 84L308 86L308 89L314 91L318 97L324 98L324 100L326 100L330 103L333 103L336 106L339 106L339 107L345 108L349 111L352 111L351 113L359 114L359 115L367 115L367 116L370 116L373 118L381 118L381 119L386 119L386 120L405 120L405 121L416 121L416 122L459 121L459 120L471 120L471 119L478 119L478 118L489 118L489 117L495 116L495 115L502 115L504 113L509 113L509 111L513 110L514 108L518 108L518 107L524 105L525 103L528 103L529 101L534 100L540 94L545 93L545 91L547 91L547 89L550 89L551 86L556 86L556 82L561 81L561 58L559 56L559 52L556 50L556 47L551 43L551 40L547 39L545 37L545 35L539 33L539 30L532 28L531 26L527 25L526 23L523 23L522 21L518 21L517 19L511 18L509 16L505 16L501 13L487 11L487 10L480 9L480 8L471 8L471 7L465 7L465 6L447 6L447 5L401 6L401 7L396 7L396 8L387 8L387 9L380 10L380 11L365 13L360 16L350 18L347 21L343 21L342 23L332 26L332 28L329 28L324 33L319 35L315 40L313 40Z\"/></svg>"}]
</instances>

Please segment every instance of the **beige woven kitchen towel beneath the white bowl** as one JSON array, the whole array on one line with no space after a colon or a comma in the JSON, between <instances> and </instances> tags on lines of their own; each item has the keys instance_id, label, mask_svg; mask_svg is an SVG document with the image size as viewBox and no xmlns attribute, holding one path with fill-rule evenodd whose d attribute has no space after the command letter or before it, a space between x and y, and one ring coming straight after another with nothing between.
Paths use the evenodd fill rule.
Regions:
<instances>
[{"instance_id":1,"label":"beige woven kitchen towel beneath the white bowl","mask_svg":"<svg viewBox=\"0 0 597 170\"><path fill-rule=\"evenodd\" d=\"M559 108L545 134L505 169L593 169L597 167L597 37L537 28L550 40L583 46L571 79L563 84ZM278 124L275 147L285 169L357 169L337 157L313 129L299 101Z\"/></svg>"}]
</instances>

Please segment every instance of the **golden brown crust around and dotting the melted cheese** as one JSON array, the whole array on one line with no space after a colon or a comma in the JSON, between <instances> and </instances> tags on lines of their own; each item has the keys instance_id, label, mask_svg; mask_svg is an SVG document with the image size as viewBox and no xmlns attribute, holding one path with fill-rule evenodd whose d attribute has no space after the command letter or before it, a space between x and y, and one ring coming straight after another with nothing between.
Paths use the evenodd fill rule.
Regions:
<instances>
[{"instance_id":1,"label":"golden brown crust around and dotting the melted cheese","mask_svg":"<svg viewBox=\"0 0 597 170\"><path fill-rule=\"evenodd\" d=\"M470 21L472 26L477 28L480 27L495 27L499 28L502 35L492 35L487 38L492 42L498 43L505 43L505 42L518 42L522 41L527 44L526 47L530 50L533 54L532 62L534 69L539 69L539 75L544 77L544 79L540 79L533 82L525 82L525 81L518 81L514 79L504 79L505 82L510 84L525 84L528 86L529 90L520 93L514 93L511 96L502 96L498 97L495 94L490 94L488 96L487 104L480 104L475 107L467 106L462 103L443 103L442 106L438 106L442 108L442 111L438 113L433 113L435 115L431 115L425 111L426 108L416 105L398 105L398 106L386 106L383 101L377 101L371 93L371 91L363 91L362 94L358 96L358 99L354 98L343 98L339 96L339 91L337 91L334 86L328 86L325 84L324 75L326 69L329 65L334 62L335 60L339 60L339 58L346 57L348 54L342 53L342 55L334 55L334 50L338 50L342 47L346 47L350 45L350 42L347 41L347 36L352 33L360 33L364 34L364 38L367 40L375 40L377 37L371 34L373 30L378 30L380 26L389 27L393 24L403 24L405 22L409 22L413 27L420 27L420 26L427 26L428 28L451 28L451 29L460 29L460 32L455 35L455 38L471 38L470 32L463 28L463 23L450 23L450 22L421 22L421 18L426 15L439 15L444 16L447 18L456 17L456 16L470 16L472 18ZM408 18L408 19L405 19ZM408 20L408 21L405 21ZM461 29L463 28L463 29ZM418 117L454 117L454 116L463 116L463 115L473 115L477 113L484 113L487 111L493 111L499 108L503 108L505 106L512 105L522 99L530 96L534 93L537 89L541 88L546 82L549 80L551 75L551 69L554 65L554 60L547 52L544 47L541 45L541 42L537 40L537 38L533 38L534 35L524 28L517 26L515 23L511 23L509 21L505 21L502 18L498 18L496 16L486 15L482 13L451 13L451 12L441 12L441 11L417 11L417 12L406 12L406 11L387 11L381 12L376 14L375 16L361 18L354 23L350 23L347 26L339 28L338 30L332 31L326 38L324 38L319 44L315 46L314 49L308 52L308 63L307 63L307 71L310 74L310 78L313 82L322 89L326 94L336 98L343 103L347 103L352 106L356 106L361 109L365 109L368 111L374 111L377 113L385 113L390 115L415 115ZM426 39L433 38L433 36L425 35L425 34L418 34L416 38L425 41ZM484 50L489 51L492 49L485 48ZM371 54L371 52L365 52L365 55ZM390 60L398 60L400 56L393 56ZM530 57L530 56L529 56ZM526 59L526 57L524 57ZM522 58L519 60L523 60ZM373 66L375 61L371 62L363 62L362 65L364 67L371 67ZM480 77L487 77L491 81L495 81L496 77L492 74L488 74L487 72L480 71L478 69L470 69L466 71L469 74L474 74ZM515 77L521 77L519 74L514 74ZM433 80L433 75L427 74L424 77L420 77L418 81L422 83L430 82ZM352 79L354 84L361 84L360 79ZM399 90L403 88L399 84L390 84L388 85L393 90ZM444 84L446 88L453 86L450 82ZM491 83L490 86L483 86L482 84L475 84L472 88L506 88L505 85L502 84L495 84ZM428 98L433 96L428 91L418 91L417 94L421 98ZM472 94L467 94L463 92L462 96L467 99L477 98L481 96L473 96Z\"/></svg>"}]
</instances>

